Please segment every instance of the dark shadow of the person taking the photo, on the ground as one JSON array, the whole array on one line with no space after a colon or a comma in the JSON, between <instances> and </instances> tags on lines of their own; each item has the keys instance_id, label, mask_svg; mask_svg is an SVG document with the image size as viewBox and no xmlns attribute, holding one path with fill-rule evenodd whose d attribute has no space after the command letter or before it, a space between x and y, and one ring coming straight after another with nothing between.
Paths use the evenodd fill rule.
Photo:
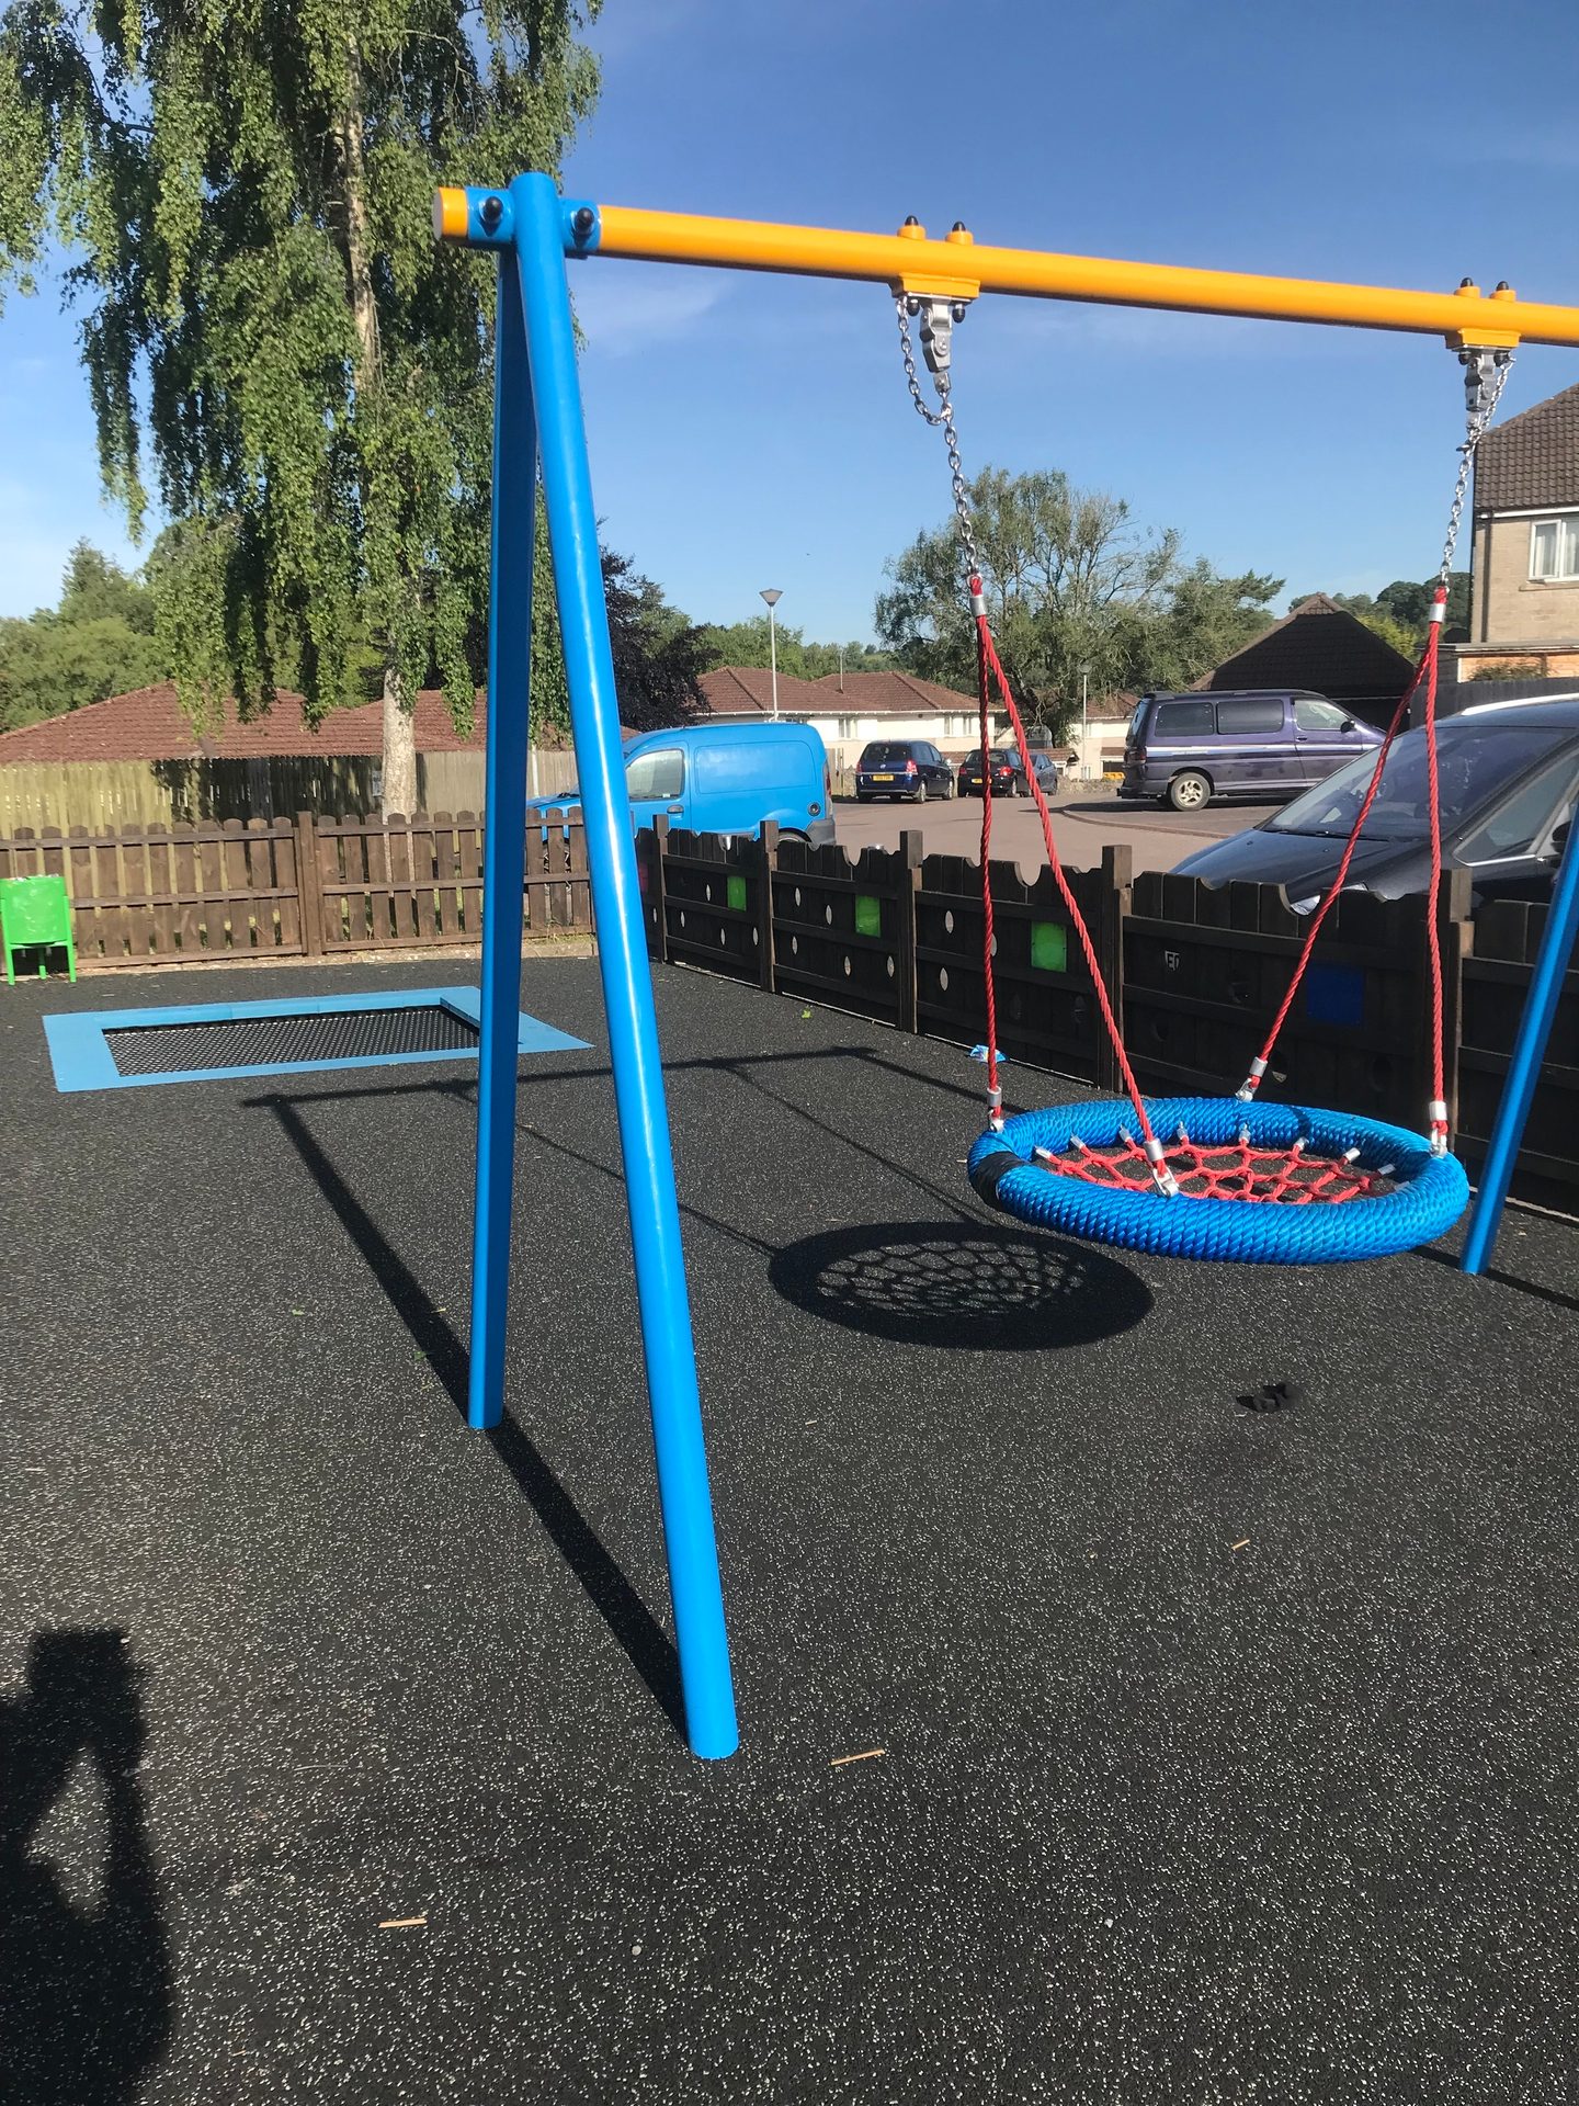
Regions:
<instances>
[{"instance_id":1,"label":"dark shadow of the person taking the photo, on the ground","mask_svg":"<svg viewBox=\"0 0 1579 2106\"><path fill-rule=\"evenodd\" d=\"M139 1681L122 1632L46 1630L34 1634L23 1691L0 1697L4 2106L126 2106L171 2034L171 1961L137 1782ZM69 1879L40 1836L67 1790L80 1805L84 1763L103 1805L95 1832L105 1834L91 1891L76 1879L78 1836Z\"/></svg>"}]
</instances>

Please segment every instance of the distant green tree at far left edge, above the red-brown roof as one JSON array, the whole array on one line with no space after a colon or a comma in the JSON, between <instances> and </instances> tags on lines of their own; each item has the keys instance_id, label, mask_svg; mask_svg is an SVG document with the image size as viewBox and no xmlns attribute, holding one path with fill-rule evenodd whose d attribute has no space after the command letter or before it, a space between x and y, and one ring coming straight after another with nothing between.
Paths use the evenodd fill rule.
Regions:
<instances>
[{"instance_id":1,"label":"distant green tree at far left edge, above the red-brown roof","mask_svg":"<svg viewBox=\"0 0 1579 2106\"><path fill-rule=\"evenodd\" d=\"M86 541L72 550L59 607L0 621L0 731L166 676L152 592Z\"/></svg>"}]
</instances>

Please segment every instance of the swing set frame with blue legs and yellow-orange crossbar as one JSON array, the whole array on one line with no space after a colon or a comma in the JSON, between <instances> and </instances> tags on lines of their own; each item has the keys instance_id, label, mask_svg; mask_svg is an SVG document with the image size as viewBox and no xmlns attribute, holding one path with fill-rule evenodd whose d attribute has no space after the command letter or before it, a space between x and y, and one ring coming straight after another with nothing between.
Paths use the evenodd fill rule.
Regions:
<instances>
[{"instance_id":1,"label":"swing set frame with blue legs and yellow-orange crossbar","mask_svg":"<svg viewBox=\"0 0 1579 2106\"><path fill-rule=\"evenodd\" d=\"M526 836L526 697L531 674L533 526L541 472L554 592L564 640L571 731L581 788L587 870L598 925L646 1363L659 1508L674 1603L676 1651L693 1754L739 1746L718 1573L712 1491L697 1388L691 1304L680 1247L669 1120L646 962L642 899L619 741L608 617L598 560L585 419L575 358L568 265L629 257L886 284L926 301L947 326L981 293L1171 307L1440 335L1453 350L1518 343L1579 347L1579 307L1491 295L1263 278L977 244L956 225L928 240L914 221L897 234L857 234L768 221L653 213L560 198L547 175L497 190L446 187L434 234L499 261L495 320L493 556L488 607L488 733L478 1064L476 1219L467 1417L503 1415L505 1308L516 1139L516 1017L520 1002L520 870ZM1579 830L1571 834L1531 1000L1520 1026L1503 1112L1472 1221L1480 1270L1518 1152L1528 1095L1579 929ZM1503 1131L1503 1129L1512 1131ZM1501 1186L1497 1188L1497 1179ZM1482 1224L1491 1203L1491 1217Z\"/></svg>"}]
</instances>

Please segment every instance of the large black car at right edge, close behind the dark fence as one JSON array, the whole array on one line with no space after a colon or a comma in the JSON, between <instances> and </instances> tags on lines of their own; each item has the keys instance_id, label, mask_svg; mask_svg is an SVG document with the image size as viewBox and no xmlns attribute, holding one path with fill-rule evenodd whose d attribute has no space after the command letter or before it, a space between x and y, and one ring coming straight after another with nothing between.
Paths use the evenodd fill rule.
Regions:
<instances>
[{"instance_id":1,"label":"large black car at right edge, close behind the dark fence","mask_svg":"<svg viewBox=\"0 0 1579 2106\"><path fill-rule=\"evenodd\" d=\"M1579 695L1505 701L1438 724L1442 861L1474 874L1480 899L1545 899L1579 796ZM1181 878L1282 885L1297 908L1333 882L1375 769L1362 754L1293 804L1187 855ZM1345 878L1398 899L1432 882L1425 733L1406 731L1381 775Z\"/></svg>"}]
</instances>

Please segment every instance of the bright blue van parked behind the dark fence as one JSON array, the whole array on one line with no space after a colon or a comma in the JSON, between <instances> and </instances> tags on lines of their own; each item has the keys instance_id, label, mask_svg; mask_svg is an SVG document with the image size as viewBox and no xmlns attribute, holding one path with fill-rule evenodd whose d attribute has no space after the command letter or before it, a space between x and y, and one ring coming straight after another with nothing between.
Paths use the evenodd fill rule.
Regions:
<instances>
[{"instance_id":1,"label":"bright blue van parked behind the dark fence","mask_svg":"<svg viewBox=\"0 0 1579 2106\"><path fill-rule=\"evenodd\" d=\"M813 849L834 838L827 748L811 724L646 731L625 748L625 794L638 828L661 813L693 834L758 834L773 819Z\"/></svg>"}]
</instances>

